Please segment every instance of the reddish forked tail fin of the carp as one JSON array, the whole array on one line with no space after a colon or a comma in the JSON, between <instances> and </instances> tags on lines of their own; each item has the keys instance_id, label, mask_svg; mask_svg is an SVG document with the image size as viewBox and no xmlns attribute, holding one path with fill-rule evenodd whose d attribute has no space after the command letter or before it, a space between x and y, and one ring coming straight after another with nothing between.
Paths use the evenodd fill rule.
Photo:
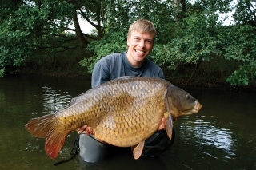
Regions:
<instances>
[{"instance_id":1,"label":"reddish forked tail fin of the carp","mask_svg":"<svg viewBox=\"0 0 256 170\"><path fill-rule=\"evenodd\" d=\"M54 127L54 114L33 118L25 128L31 135L36 137L46 137L45 150L50 158L55 159L63 147L68 133L62 134Z\"/></svg>"}]
</instances>

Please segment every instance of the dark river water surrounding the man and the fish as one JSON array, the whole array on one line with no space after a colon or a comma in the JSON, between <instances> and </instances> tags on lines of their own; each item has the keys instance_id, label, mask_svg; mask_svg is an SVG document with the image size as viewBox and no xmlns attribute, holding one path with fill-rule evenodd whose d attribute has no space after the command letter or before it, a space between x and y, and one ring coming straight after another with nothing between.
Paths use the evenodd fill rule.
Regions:
<instances>
[{"instance_id":1,"label":"dark river water surrounding the man and the fish","mask_svg":"<svg viewBox=\"0 0 256 170\"><path fill-rule=\"evenodd\" d=\"M191 87L182 89L198 98L202 109L174 122L176 139L161 156L134 160L130 151L121 151L98 163L76 157L54 166L71 157L77 132L51 160L44 151L45 139L31 136L24 125L33 117L65 109L87 89L90 77L0 78L0 169L256 169L256 92Z\"/></svg>"}]
</instances>

